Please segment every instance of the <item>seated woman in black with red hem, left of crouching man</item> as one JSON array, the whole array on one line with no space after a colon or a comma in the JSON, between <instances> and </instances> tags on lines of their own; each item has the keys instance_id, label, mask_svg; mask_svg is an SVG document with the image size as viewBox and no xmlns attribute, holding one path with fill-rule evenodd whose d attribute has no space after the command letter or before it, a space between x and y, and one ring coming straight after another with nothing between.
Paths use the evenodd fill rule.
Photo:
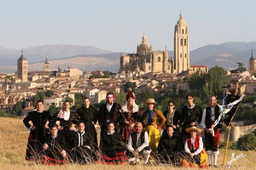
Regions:
<instances>
[{"instance_id":1,"label":"seated woman in black with red hem, left of crouching man","mask_svg":"<svg viewBox=\"0 0 256 170\"><path fill-rule=\"evenodd\" d=\"M128 158L125 157L122 137L114 128L114 123L109 122L107 131L101 136L100 162L104 164L123 164L124 161L128 160Z\"/></svg>"}]
</instances>

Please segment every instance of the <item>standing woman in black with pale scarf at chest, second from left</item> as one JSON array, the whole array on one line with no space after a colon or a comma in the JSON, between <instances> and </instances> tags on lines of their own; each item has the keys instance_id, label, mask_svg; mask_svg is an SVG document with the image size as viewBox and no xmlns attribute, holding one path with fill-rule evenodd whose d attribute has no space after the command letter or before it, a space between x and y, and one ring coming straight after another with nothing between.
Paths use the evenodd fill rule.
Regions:
<instances>
[{"instance_id":1,"label":"standing woman in black with pale scarf at chest, second from left","mask_svg":"<svg viewBox=\"0 0 256 170\"><path fill-rule=\"evenodd\" d=\"M75 127L72 127L72 123L78 123L78 114L74 111L70 111L71 102L65 101L64 108L56 113L52 122L56 123L57 120L60 121L60 125L58 126L58 134L61 134L67 143L68 149L71 149L72 145L72 131L75 130Z\"/></svg>"}]
</instances>

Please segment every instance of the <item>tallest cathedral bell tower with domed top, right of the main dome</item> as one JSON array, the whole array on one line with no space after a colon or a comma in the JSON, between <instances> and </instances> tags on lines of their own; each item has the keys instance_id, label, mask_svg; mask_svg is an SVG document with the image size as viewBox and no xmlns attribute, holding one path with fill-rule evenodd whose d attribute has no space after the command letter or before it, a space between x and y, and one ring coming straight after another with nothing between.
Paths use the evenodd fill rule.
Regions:
<instances>
[{"instance_id":1,"label":"tallest cathedral bell tower with domed top, right of the main dome","mask_svg":"<svg viewBox=\"0 0 256 170\"><path fill-rule=\"evenodd\" d=\"M190 68L188 28L182 13L174 31L174 73Z\"/></svg>"}]
</instances>

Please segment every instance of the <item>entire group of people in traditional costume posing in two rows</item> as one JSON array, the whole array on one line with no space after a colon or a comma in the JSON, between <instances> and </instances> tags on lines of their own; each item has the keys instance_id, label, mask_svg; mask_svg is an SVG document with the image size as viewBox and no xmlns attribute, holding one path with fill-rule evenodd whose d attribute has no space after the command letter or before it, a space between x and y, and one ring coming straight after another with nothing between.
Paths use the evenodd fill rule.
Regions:
<instances>
[{"instance_id":1,"label":"entire group of people in traditional costume posing in two rows","mask_svg":"<svg viewBox=\"0 0 256 170\"><path fill-rule=\"evenodd\" d=\"M175 109L171 100L167 111L162 113L155 109L153 98L147 99L147 109L142 109L128 89L123 106L115 102L112 92L108 92L106 103L98 111L90 106L89 98L84 98L80 109L71 111L71 103L65 101L63 109L53 116L43 111L43 102L39 100L36 110L29 112L23 120L30 130L26 159L44 164L70 161L136 164L144 159L144 163L149 164L151 156L163 164L207 167L208 155L209 166L216 167L218 128L221 128L220 121L211 129L220 115L216 97L210 97L210 106L204 111L193 103L193 99L193 95L187 95L188 105L181 112ZM99 146L95 129L97 121L101 126ZM200 123L204 129L206 152L199 135L202 131L198 128ZM72 124L76 124L75 127Z\"/></svg>"}]
</instances>

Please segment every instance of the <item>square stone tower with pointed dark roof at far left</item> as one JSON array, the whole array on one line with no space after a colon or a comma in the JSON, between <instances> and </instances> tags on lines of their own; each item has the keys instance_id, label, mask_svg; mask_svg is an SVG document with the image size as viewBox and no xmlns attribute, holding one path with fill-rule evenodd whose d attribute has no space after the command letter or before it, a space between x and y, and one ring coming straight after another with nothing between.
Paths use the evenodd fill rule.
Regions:
<instances>
[{"instance_id":1,"label":"square stone tower with pointed dark roof at far left","mask_svg":"<svg viewBox=\"0 0 256 170\"><path fill-rule=\"evenodd\" d=\"M28 60L23 55L23 51L21 51L21 56L17 60L17 77L21 81L28 81Z\"/></svg>"}]
</instances>

